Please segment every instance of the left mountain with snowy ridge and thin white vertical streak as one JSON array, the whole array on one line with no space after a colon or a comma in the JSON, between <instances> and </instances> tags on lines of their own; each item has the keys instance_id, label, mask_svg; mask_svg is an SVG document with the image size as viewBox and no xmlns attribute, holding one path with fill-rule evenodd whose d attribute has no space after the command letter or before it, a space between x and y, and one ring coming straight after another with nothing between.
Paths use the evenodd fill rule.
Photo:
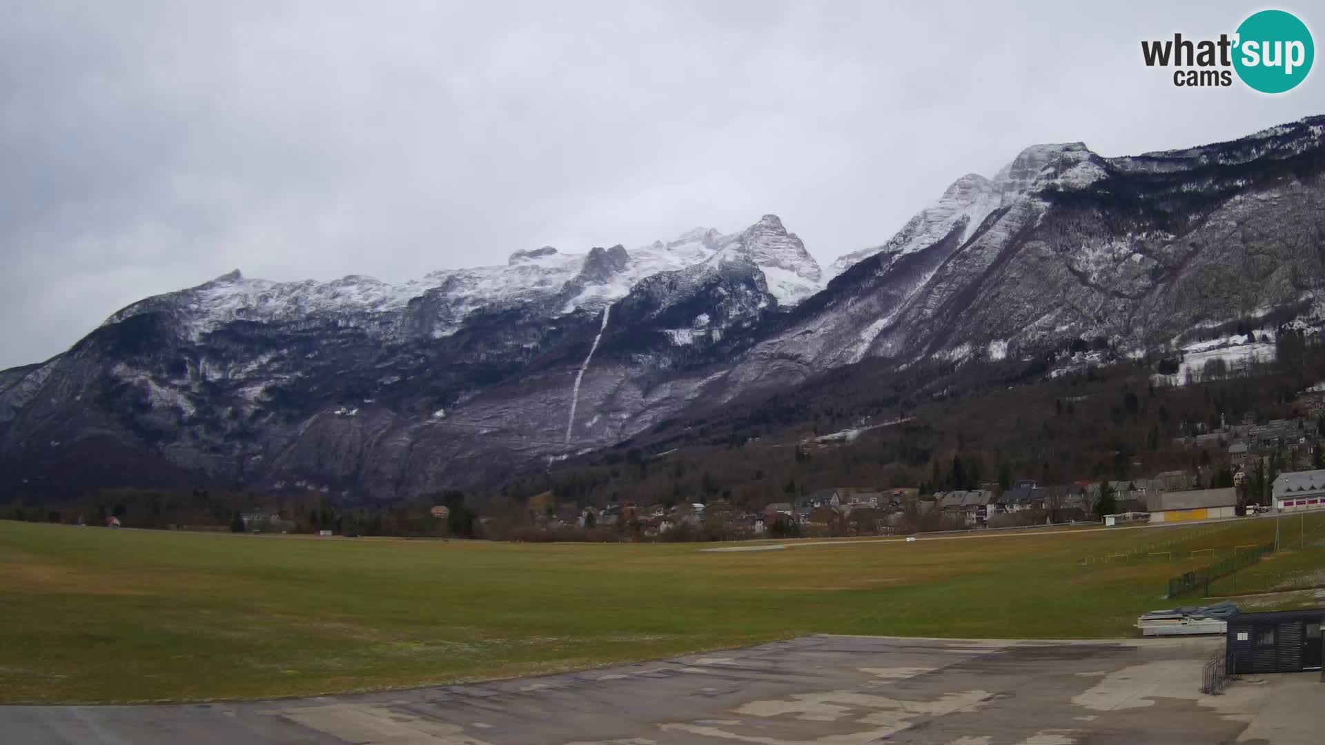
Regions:
<instances>
[{"instance_id":1,"label":"left mountain with snowy ridge and thin white vertical streak","mask_svg":"<svg viewBox=\"0 0 1325 745\"><path fill-rule=\"evenodd\" d=\"M134 452L147 465L130 484L371 500L476 484L678 411L697 370L819 281L771 215L730 236L543 247L405 285L232 272L0 372L0 476L58 490L101 481L98 452Z\"/></svg>"}]
</instances>

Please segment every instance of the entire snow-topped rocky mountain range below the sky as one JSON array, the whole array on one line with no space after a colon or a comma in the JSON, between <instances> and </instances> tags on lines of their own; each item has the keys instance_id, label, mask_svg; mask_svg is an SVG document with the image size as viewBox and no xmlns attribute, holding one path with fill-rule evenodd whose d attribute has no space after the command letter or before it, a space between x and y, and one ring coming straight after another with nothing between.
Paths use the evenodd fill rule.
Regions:
<instances>
[{"instance_id":1,"label":"entire snow-topped rocky mountain range below the sky","mask_svg":"<svg viewBox=\"0 0 1325 745\"><path fill-rule=\"evenodd\" d=\"M865 358L1028 357L1081 335L1142 350L1271 312L1316 323L1322 127L1133 158L1031 147L827 273L771 215L405 285L236 272L0 372L0 480L398 498Z\"/></svg>"}]
</instances>

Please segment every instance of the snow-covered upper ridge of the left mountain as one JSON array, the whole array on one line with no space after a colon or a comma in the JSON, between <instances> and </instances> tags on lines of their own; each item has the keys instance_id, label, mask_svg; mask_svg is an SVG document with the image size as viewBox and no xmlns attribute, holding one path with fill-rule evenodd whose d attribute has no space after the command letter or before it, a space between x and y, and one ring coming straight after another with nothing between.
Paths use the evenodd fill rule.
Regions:
<instances>
[{"instance_id":1,"label":"snow-covered upper ridge of the left mountain","mask_svg":"<svg viewBox=\"0 0 1325 745\"><path fill-rule=\"evenodd\" d=\"M554 314L598 312L621 300L641 280L697 268L713 260L746 261L763 272L768 292L790 306L822 289L822 272L795 233L776 215L765 215L745 231L723 236L693 228L669 241L627 251L595 247L563 253L551 245L519 249L506 264L429 272L421 280L390 284L351 274L339 280L276 282L244 277L237 269L191 289L139 301L113 314L106 325L152 310L166 310L192 338L232 321L280 322L326 314L379 314L429 298L431 335L445 337L482 308L513 308L555 301Z\"/></svg>"}]
</instances>

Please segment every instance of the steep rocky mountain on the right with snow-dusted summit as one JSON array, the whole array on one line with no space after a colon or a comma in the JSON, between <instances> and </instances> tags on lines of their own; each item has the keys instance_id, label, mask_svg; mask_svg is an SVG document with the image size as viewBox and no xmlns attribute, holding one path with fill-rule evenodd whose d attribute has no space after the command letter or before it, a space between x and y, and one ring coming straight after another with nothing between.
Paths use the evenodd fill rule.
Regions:
<instances>
[{"instance_id":1,"label":"steep rocky mountain on the right with snow-dusted summit","mask_svg":"<svg viewBox=\"0 0 1325 745\"><path fill-rule=\"evenodd\" d=\"M1134 158L1027 148L855 255L730 376L787 384L865 357L1030 357L1076 337L1140 351L1283 309L1318 323L1322 125Z\"/></svg>"}]
</instances>

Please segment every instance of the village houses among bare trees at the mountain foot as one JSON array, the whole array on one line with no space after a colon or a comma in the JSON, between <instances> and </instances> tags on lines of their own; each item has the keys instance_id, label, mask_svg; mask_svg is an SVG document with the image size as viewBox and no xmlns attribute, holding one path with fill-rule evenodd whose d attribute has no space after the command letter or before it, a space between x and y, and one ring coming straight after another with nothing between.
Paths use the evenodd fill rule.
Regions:
<instances>
[{"instance_id":1,"label":"village houses among bare trees at the mountain foot","mask_svg":"<svg viewBox=\"0 0 1325 745\"><path fill-rule=\"evenodd\" d=\"M1072 522L1173 522L1256 514L1269 509L1325 509L1321 418L1325 384L1298 398L1301 415L1256 423L1183 423L1191 433L1175 445L1224 453L1194 469L1125 480L1041 484L982 483L977 489L933 490L844 485L815 489L762 510L729 501L673 505L624 501L603 508L556 504L551 490L527 504L530 530L517 537L556 540L558 532L616 534L635 540L739 540L799 536L909 534ZM852 431L853 433L856 431ZM831 435L837 439L851 439ZM824 437L818 437L823 440Z\"/></svg>"}]
</instances>

